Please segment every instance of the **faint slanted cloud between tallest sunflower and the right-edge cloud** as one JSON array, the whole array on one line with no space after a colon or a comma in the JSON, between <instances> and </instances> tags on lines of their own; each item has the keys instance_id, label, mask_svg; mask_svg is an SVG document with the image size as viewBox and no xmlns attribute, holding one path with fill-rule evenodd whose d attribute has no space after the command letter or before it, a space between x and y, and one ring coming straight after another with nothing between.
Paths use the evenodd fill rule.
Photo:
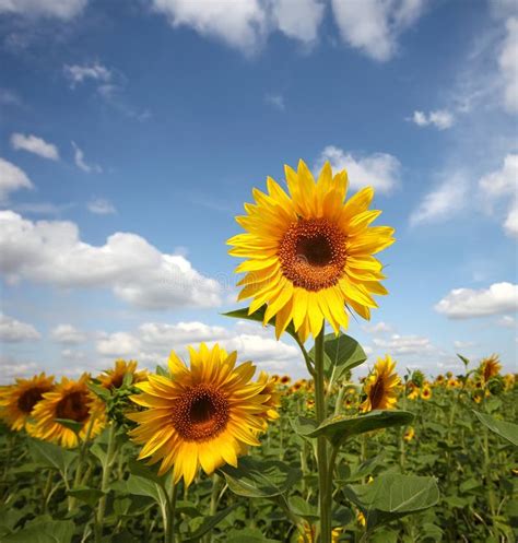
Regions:
<instances>
[{"instance_id":1,"label":"faint slanted cloud between tallest sunflower and the right-edge cloud","mask_svg":"<svg viewBox=\"0 0 518 543\"><path fill-rule=\"evenodd\" d=\"M461 173L444 176L444 181L428 192L410 215L410 224L417 225L450 219L464 205L468 182Z\"/></svg>"}]
</instances>

